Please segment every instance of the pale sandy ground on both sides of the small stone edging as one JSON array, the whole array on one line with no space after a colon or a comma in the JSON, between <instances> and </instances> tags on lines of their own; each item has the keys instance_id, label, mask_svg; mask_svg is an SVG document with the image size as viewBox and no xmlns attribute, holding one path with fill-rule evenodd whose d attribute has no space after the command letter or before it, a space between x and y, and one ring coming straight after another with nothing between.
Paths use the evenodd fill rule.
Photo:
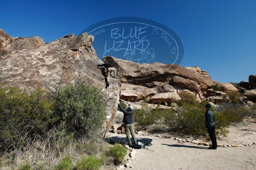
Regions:
<instances>
[{"instance_id":1,"label":"pale sandy ground on both sides of the small stone edging","mask_svg":"<svg viewBox=\"0 0 256 170\"><path fill-rule=\"evenodd\" d=\"M218 144L241 144L256 141L256 124L250 121L245 120L240 124L231 126L229 131L226 138L217 140ZM244 134L245 136L242 136ZM217 150L208 150L208 146L188 142L180 143L173 138L136 135L136 138L140 137L153 138L153 145L147 146L145 149L136 149L137 154L132 163L134 168L126 169L256 169L256 145L219 147Z\"/></svg>"}]
</instances>

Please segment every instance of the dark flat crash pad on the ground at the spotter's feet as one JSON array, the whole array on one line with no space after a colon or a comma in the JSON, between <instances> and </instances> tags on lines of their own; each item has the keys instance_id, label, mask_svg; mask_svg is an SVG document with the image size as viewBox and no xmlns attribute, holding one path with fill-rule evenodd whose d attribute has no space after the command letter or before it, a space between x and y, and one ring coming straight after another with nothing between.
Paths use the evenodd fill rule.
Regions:
<instances>
[{"instance_id":1,"label":"dark flat crash pad on the ground at the spotter's feet","mask_svg":"<svg viewBox=\"0 0 256 170\"><path fill-rule=\"evenodd\" d=\"M136 138L136 140L137 140L137 143L141 142L141 143L144 143L144 145L152 142L152 139L150 139L150 138ZM121 144L121 145L128 144L128 140L125 137L119 137L119 136L107 138L107 141L110 144ZM132 141L132 138L131 138L131 141ZM130 145L130 147L134 148L134 149L141 149L141 145L136 145L136 144L132 144L132 145Z\"/></svg>"}]
</instances>

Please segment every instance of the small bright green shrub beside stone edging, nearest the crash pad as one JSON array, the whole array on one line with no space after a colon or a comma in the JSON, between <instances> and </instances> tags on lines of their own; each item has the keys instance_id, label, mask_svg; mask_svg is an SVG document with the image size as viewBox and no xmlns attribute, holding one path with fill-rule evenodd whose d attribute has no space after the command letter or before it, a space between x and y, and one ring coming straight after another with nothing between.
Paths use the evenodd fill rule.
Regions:
<instances>
[{"instance_id":1,"label":"small bright green shrub beside stone edging, nearest the crash pad","mask_svg":"<svg viewBox=\"0 0 256 170\"><path fill-rule=\"evenodd\" d=\"M109 147L108 155L114 158L116 164L123 162L127 150L120 144L115 144Z\"/></svg>"}]
</instances>

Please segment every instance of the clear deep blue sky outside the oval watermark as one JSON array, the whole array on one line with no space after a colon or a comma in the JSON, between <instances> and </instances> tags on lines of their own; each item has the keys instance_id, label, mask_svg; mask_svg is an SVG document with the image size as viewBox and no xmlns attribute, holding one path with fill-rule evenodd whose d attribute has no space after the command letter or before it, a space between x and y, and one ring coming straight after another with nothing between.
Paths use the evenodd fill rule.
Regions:
<instances>
[{"instance_id":1,"label":"clear deep blue sky outside the oval watermark","mask_svg":"<svg viewBox=\"0 0 256 170\"><path fill-rule=\"evenodd\" d=\"M199 66L219 82L248 81L256 74L255 0L3 1L0 16L0 28L9 35L45 42L108 18L148 18L180 37L183 67Z\"/></svg>"}]
</instances>

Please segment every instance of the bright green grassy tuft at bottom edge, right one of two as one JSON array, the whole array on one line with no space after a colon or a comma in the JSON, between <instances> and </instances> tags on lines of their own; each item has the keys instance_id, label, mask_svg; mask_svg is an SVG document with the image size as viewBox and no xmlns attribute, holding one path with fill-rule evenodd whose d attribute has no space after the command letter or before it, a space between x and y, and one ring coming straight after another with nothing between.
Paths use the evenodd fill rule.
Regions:
<instances>
[{"instance_id":1,"label":"bright green grassy tuft at bottom edge, right one of two","mask_svg":"<svg viewBox=\"0 0 256 170\"><path fill-rule=\"evenodd\" d=\"M80 161L76 162L77 170L99 170L102 165L101 159L97 159L93 156L88 158L82 158Z\"/></svg>"}]
</instances>

